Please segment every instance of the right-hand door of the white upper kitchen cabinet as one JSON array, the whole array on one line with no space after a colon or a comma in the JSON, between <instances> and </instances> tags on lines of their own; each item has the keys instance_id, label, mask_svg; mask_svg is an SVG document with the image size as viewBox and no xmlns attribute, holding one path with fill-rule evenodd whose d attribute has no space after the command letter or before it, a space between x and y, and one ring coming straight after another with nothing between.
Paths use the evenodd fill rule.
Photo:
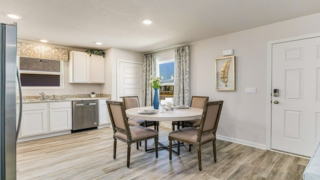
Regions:
<instances>
[{"instance_id":1,"label":"right-hand door of the white upper kitchen cabinet","mask_svg":"<svg viewBox=\"0 0 320 180\"><path fill-rule=\"evenodd\" d=\"M91 82L104 83L104 57L91 55Z\"/></svg>"}]
</instances>

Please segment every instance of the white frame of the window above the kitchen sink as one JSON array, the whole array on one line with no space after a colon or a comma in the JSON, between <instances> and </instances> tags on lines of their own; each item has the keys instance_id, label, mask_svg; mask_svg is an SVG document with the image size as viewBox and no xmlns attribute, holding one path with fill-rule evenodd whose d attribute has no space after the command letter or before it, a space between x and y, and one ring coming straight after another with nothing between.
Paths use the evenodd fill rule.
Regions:
<instances>
[{"instance_id":1,"label":"white frame of the window above the kitchen sink","mask_svg":"<svg viewBox=\"0 0 320 180\"><path fill-rule=\"evenodd\" d=\"M25 56L17 56L16 65L19 70L19 74L26 73L26 74L50 74L50 75L60 75L60 86L22 86L22 89L58 89L64 87L64 78L63 78L63 60L58 60L60 63L60 72L50 72L50 71L37 71L37 70L20 70L20 57ZM49 59L52 60L52 59Z\"/></svg>"}]
</instances>

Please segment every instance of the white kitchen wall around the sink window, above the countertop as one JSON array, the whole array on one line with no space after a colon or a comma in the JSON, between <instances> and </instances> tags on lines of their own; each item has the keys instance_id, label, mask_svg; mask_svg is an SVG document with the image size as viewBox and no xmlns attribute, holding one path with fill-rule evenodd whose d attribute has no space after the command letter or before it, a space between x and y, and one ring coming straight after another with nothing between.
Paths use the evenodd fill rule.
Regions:
<instances>
[{"instance_id":1,"label":"white kitchen wall around the sink window, above the countertop","mask_svg":"<svg viewBox=\"0 0 320 180\"><path fill-rule=\"evenodd\" d=\"M34 42L34 41L26 41L26 40L20 40L21 42L28 42L33 44L41 44L46 46L54 46L54 47L61 47L61 48L67 48L68 51L76 50L84 52L86 49L79 49L79 48L72 48L72 47L65 47L65 46L59 46L59 45L53 45L48 43L40 43L40 42ZM38 87L22 87L22 95L39 95L39 92L43 91L47 95L59 95L59 94L85 94L90 93L91 91L95 91L96 93L102 92L103 84L88 84L88 83L68 83L68 61L63 61L63 87L45 87L45 88L38 88ZM73 92L70 92L70 88L73 88ZM85 91L85 88L88 88L88 91ZM18 92L17 92L18 94ZM40 95L39 95L40 96Z\"/></svg>"}]
</instances>

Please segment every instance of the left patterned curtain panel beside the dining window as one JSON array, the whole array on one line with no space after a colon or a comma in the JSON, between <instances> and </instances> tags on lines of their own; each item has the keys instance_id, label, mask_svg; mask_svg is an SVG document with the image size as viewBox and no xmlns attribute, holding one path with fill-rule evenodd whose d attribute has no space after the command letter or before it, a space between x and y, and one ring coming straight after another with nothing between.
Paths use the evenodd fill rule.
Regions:
<instances>
[{"instance_id":1,"label":"left patterned curtain panel beside the dining window","mask_svg":"<svg viewBox=\"0 0 320 180\"><path fill-rule=\"evenodd\" d=\"M145 54L143 61L143 106L152 106L151 74L156 76L155 53Z\"/></svg>"}]
</instances>

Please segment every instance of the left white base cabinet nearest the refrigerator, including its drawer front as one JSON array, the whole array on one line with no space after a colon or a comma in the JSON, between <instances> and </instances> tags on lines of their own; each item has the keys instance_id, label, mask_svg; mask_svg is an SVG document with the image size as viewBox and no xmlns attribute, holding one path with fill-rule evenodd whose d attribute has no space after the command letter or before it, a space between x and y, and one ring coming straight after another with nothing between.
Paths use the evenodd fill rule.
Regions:
<instances>
[{"instance_id":1,"label":"left white base cabinet nearest the refrigerator, including its drawer front","mask_svg":"<svg viewBox=\"0 0 320 180\"><path fill-rule=\"evenodd\" d=\"M21 137L48 132L46 104L23 104L20 126Z\"/></svg>"}]
</instances>

